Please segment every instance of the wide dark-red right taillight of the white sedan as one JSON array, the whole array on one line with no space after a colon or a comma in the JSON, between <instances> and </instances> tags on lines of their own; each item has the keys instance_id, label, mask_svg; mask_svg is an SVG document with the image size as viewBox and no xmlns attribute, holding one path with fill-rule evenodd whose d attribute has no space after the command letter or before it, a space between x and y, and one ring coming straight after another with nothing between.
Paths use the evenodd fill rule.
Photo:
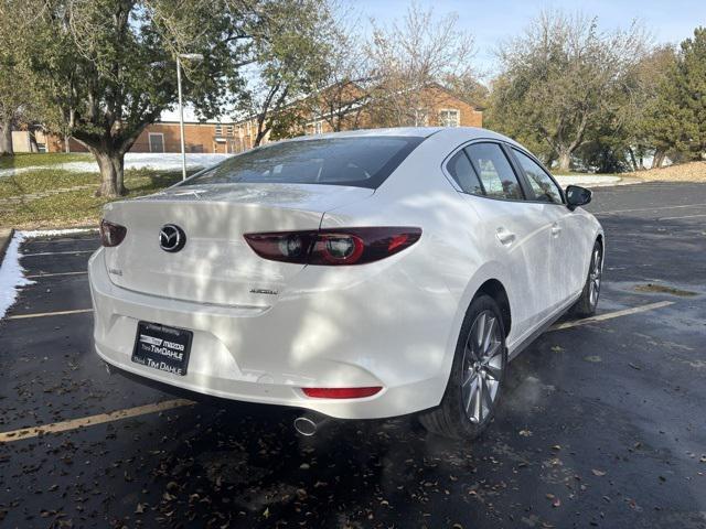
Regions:
<instances>
[{"instance_id":1,"label":"wide dark-red right taillight of the white sedan","mask_svg":"<svg viewBox=\"0 0 706 529\"><path fill-rule=\"evenodd\" d=\"M245 234L250 248L264 259L301 264L364 264L409 248L420 228L334 228L318 231Z\"/></svg>"}]
</instances>

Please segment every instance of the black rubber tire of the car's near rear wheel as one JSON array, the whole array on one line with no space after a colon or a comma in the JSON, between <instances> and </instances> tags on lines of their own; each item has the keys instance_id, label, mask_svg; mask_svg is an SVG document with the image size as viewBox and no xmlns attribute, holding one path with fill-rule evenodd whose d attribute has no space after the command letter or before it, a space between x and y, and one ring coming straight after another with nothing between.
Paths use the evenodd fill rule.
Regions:
<instances>
[{"instance_id":1,"label":"black rubber tire of the car's near rear wheel","mask_svg":"<svg viewBox=\"0 0 706 529\"><path fill-rule=\"evenodd\" d=\"M483 314L485 314L484 317L486 319L489 313L492 313L494 316L498 330L500 331L500 350L493 355L493 358L495 359L495 365L502 366L502 369L498 376L494 398L491 397L492 406L489 407L490 411L485 414L481 411L481 420L473 422L466 411L466 402L470 401L464 399L462 389L464 378L467 378L468 374L471 373L466 367L467 342L477 319L481 317ZM484 320L484 322L486 320ZM457 440L472 440L478 438L493 420L495 409L498 408L501 398L506 366L507 348L505 346L505 328L500 307L491 296L484 294L479 295L471 302L471 305L466 313L463 324L461 325L451 374L449 376L449 381L447 384L443 398L441 399L441 403L437 408L421 412L418 415L421 425L424 425L428 432L442 435L445 438ZM495 378L492 378L492 380L494 384ZM483 401L480 395L478 399L481 401L480 406L481 410L483 410Z\"/></svg>"}]
</instances>

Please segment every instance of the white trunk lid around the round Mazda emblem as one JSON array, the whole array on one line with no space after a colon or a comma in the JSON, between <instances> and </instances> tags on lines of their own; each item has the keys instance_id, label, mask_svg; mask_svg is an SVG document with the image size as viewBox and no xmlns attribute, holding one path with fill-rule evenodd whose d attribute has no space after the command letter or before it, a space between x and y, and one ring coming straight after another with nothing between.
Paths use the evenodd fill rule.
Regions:
<instances>
[{"instance_id":1,"label":"white trunk lid around the round Mazda emblem","mask_svg":"<svg viewBox=\"0 0 706 529\"><path fill-rule=\"evenodd\" d=\"M106 219L127 228L106 248L114 284L136 292L218 305L271 305L303 264L258 257L243 234L318 229L323 214L364 199L373 190L320 184L227 184L172 187L106 206ZM160 247L175 225L185 245Z\"/></svg>"}]
</instances>

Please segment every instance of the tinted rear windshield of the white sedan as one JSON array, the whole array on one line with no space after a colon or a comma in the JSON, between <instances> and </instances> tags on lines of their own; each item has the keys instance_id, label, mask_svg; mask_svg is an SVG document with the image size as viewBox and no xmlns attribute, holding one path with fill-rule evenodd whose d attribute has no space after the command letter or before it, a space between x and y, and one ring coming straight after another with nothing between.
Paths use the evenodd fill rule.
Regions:
<instances>
[{"instance_id":1,"label":"tinted rear windshield of the white sedan","mask_svg":"<svg viewBox=\"0 0 706 529\"><path fill-rule=\"evenodd\" d=\"M422 140L368 136L286 141L228 158L181 185L267 182L375 188Z\"/></svg>"}]
</instances>

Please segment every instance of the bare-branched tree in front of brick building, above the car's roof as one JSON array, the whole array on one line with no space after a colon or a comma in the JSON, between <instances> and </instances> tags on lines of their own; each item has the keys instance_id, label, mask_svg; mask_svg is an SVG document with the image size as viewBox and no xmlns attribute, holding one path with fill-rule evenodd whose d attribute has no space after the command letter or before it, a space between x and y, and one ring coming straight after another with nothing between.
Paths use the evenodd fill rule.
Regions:
<instances>
[{"instance_id":1,"label":"bare-branched tree in front of brick building, above the car's roof","mask_svg":"<svg viewBox=\"0 0 706 529\"><path fill-rule=\"evenodd\" d=\"M473 76L473 36L458 28L457 14L437 18L417 3L389 26L372 23L365 50L376 79L376 125L426 125L431 100L425 88L450 77Z\"/></svg>"}]
</instances>

